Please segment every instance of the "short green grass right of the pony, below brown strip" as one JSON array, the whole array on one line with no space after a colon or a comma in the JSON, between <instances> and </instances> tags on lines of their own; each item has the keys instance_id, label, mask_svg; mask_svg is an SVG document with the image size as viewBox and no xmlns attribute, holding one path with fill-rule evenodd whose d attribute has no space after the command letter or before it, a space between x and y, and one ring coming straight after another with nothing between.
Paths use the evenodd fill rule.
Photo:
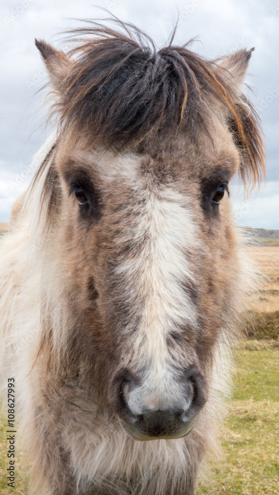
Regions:
<instances>
[{"instance_id":1,"label":"short green grass right of the pony, below brown strip","mask_svg":"<svg viewBox=\"0 0 279 495\"><path fill-rule=\"evenodd\" d=\"M263 344L262 350L237 351L224 459L212 466L212 478L199 484L197 495L279 494L279 350Z\"/></svg>"}]
</instances>

